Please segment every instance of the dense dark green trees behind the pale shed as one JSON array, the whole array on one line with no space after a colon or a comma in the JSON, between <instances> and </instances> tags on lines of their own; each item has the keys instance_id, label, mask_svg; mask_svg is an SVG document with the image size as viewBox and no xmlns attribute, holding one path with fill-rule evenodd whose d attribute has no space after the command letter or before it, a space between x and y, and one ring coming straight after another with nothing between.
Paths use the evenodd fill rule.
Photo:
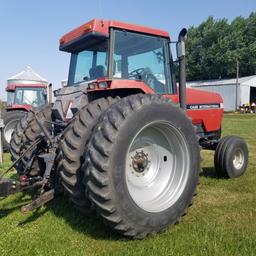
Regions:
<instances>
[{"instance_id":1,"label":"dense dark green trees behind the pale shed","mask_svg":"<svg viewBox=\"0 0 256 256\"><path fill-rule=\"evenodd\" d=\"M209 17L188 29L187 80L205 80L256 74L256 12L249 17L216 20Z\"/></svg>"}]
</instances>

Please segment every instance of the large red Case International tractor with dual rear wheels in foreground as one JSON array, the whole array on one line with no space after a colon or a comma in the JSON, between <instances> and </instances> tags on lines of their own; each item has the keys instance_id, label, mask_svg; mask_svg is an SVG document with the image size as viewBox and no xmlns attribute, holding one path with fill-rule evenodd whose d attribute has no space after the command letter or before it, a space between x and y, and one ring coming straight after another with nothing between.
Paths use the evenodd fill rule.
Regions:
<instances>
[{"instance_id":1,"label":"large red Case International tractor with dual rear wheels in foreground","mask_svg":"<svg viewBox=\"0 0 256 256\"><path fill-rule=\"evenodd\" d=\"M165 31L92 20L64 35L68 85L17 126L11 153L20 181L2 180L0 195L38 188L27 212L64 190L82 212L143 238L187 212L201 148L215 150L220 176L242 175L247 145L221 139L221 97L185 88L185 35L177 42L179 86Z\"/></svg>"}]
</instances>

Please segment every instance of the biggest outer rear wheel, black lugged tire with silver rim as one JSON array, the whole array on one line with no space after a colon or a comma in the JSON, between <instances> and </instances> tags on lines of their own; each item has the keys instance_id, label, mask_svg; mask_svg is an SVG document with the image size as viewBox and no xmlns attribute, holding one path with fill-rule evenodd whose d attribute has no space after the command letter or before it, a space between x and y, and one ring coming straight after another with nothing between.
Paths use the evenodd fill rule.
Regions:
<instances>
[{"instance_id":1,"label":"biggest outer rear wheel, black lugged tire with silver rim","mask_svg":"<svg viewBox=\"0 0 256 256\"><path fill-rule=\"evenodd\" d=\"M199 151L194 127L178 106L158 95L129 96L95 127L84 185L107 225L143 238L185 214L198 183Z\"/></svg>"}]
</instances>

